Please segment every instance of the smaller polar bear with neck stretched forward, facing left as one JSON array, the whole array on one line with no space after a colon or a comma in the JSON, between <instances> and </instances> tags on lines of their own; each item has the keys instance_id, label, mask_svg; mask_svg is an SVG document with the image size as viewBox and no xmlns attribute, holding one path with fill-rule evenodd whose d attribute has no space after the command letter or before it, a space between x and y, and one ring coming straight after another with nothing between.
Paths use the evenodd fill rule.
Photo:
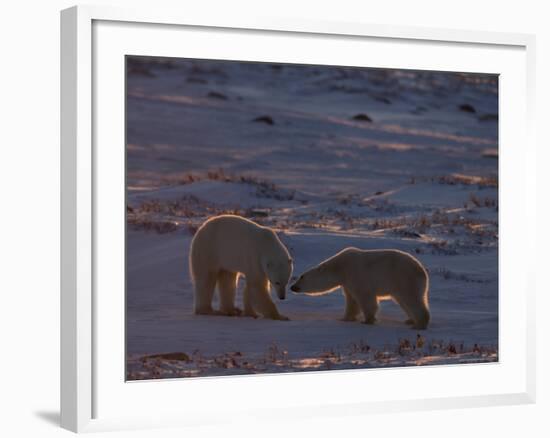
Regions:
<instances>
[{"instance_id":1,"label":"smaller polar bear with neck stretched forward, facing left","mask_svg":"<svg viewBox=\"0 0 550 438\"><path fill-rule=\"evenodd\" d=\"M346 299L344 321L376 321L378 302L393 299L409 316L406 322L425 329L430 321L429 277L422 264L406 252L346 248L304 272L290 287L296 293L319 295L342 287Z\"/></svg>"}]
</instances>

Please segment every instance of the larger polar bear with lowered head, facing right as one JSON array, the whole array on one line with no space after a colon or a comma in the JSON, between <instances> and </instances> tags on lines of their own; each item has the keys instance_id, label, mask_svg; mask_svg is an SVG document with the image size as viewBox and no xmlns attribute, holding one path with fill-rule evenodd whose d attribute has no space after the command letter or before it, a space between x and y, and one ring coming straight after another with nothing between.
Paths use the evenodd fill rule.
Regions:
<instances>
[{"instance_id":1,"label":"larger polar bear with lowered head, facing right","mask_svg":"<svg viewBox=\"0 0 550 438\"><path fill-rule=\"evenodd\" d=\"M195 285L195 314L240 315L235 293L240 274L246 278L244 316L288 320L270 297L270 285L284 300L292 259L273 230L248 219L221 215L208 219L191 242L189 270ZM218 285L220 310L212 309Z\"/></svg>"}]
</instances>

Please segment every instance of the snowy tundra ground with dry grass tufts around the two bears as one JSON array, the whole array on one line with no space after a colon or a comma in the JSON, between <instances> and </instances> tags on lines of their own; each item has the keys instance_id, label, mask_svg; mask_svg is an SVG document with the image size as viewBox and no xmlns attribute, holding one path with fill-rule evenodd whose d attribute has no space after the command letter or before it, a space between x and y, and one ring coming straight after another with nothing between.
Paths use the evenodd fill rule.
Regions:
<instances>
[{"instance_id":1,"label":"snowy tundra ground with dry grass tufts around the two bears","mask_svg":"<svg viewBox=\"0 0 550 438\"><path fill-rule=\"evenodd\" d=\"M498 360L496 77L130 58L127 84L129 379ZM295 275L414 254L429 328L391 301L339 321L339 291L274 297L290 321L193 315L189 244L221 213L276 229Z\"/></svg>"}]
</instances>

